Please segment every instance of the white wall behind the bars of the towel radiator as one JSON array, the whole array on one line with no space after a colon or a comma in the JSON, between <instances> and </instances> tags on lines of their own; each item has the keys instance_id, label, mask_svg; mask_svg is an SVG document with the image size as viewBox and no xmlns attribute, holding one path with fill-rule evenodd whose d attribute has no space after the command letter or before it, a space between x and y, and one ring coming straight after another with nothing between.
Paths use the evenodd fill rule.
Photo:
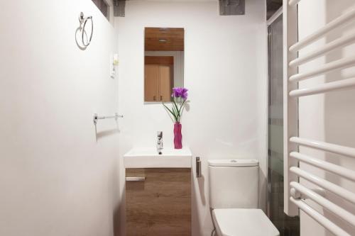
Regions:
<instances>
[{"instance_id":1,"label":"white wall behind the bars of the towel radiator","mask_svg":"<svg viewBox=\"0 0 355 236\"><path fill-rule=\"evenodd\" d=\"M301 1L299 4L299 37L300 39L305 38L305 36L314 32L318 28L324 26L329 21L337 18L343 13L350 11L355 8L355 3L353 0L317 0L317 1ZM339 27L332 33L326 35L326 37L321 40L305 47L304 50L300 51L300 55L314 50L320 45L329 43L332 40L339 38L342 35L348 35L349 33L354 33L354 21L345 27ZM317 60L309 62L302 67L300 67L300 72L305 72L310 69L315 69L321 64L332 62L334 60L339 60L342 57L350 57L354 55L355 45L349 45L339 50L334 50L324 57L320 57ZM322 84L324 82L337 81L339 79L346 79L354 77L355 69L343 69L342 71L332 72L324 76L309 79L308 81L301 82L300 87L315 86L317 84ZM332 92L325 95L315 95L308 96L300 99L300 136L308 137L315 140L324 140L325 142L336 143L339 145L345 145L349 147L355 147L354 133L355 133L355 93L354 90ZM334 154L328 154L324 152L318 152L308 148L302 148L302 153L309 154L310 156L318 157L320 159L327 160L334 164L339 164L343 167L355 170L355 161L347 157L340 157ZM302 164L303 169L317 174L318 176L325 178L329 181L339 184L350 191L354 191L355 184L346 179L342 179L333 174L327 172L322 172L319 169L309 167ZM312 184L304 181L304 184L311 186ZM339 204L349 210L351 213L355 213L355 208L350 203L343 201L336 196L326 193L327 198L334 201L334 203ZM338 220L331 213L324 210L317 204L309 203L321 213L334 220L337 225L344 227L348 230L350 235L355 235L354 227L349 227L346 223ZM300 215L300 225L301 225L301 235L320 235L329 236L332 233L328 232L321 225L319 225L315 220L302 213Z\"/></svg>"}]
</instances>

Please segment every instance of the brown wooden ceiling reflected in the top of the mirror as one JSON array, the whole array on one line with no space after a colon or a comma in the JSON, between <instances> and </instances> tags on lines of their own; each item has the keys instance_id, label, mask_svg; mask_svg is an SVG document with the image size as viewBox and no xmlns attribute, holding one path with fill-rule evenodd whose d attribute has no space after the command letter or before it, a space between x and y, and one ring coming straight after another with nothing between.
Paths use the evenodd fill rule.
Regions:
<instances>
[{"instance_id":1,"label":"brown wooden ceiling reflected in the top of the mirror","mask_svg":"<svg viewBox=\"0 0 355 236\"><path fill-rule=\"evenodd\" d=\"M144 36L146 51L183 51L183 28L146 28Z\"/></svg>"}]
</instances>

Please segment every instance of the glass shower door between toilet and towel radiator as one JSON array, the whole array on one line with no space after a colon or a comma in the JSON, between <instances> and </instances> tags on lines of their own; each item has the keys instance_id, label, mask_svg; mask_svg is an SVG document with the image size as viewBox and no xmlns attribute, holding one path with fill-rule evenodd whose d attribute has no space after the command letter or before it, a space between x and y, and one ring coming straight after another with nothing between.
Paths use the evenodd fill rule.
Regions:
<instances>
[{"instance_id":1,"label":"glass shower door between toilet and towel radiator","mask_svg":"<svg viewBox=\"0 0 355 236\"><path fill-rule=\"evenodd\" d=\"M283 213L283 17L268 26L268 216L280 236L300 235L298 217Z\"/></svg>"}]
</instances>

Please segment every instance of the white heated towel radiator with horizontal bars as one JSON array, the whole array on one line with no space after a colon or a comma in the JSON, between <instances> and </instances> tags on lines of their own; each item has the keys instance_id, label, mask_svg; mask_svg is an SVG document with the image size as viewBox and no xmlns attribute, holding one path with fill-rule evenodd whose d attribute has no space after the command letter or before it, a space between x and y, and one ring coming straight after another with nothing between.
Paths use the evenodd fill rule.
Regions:
<instances>
[{"instance_id":1,"label":"white heated towel radiator with horizontal bars","mask_svg":"<svg viewBox=\"0 0 355 236\"><path fill-rule=\"evenodd\" d=\"M334 145L332 143L320 142L317 140L309 140L298 137L298 97L309 96L312 94L322 94L328 91L346 89L355 87L355 78L343 79L337 82L329 82L319 86L307 89L298 89L298 82L304 79L310 79L320 74L332 72L337 69L344 69L355 66L355 56L344 57L340 60L329 62L320 67L307 72L298 73L298 66L325 55L327 52L334 50L349 43L355 42L355 33L344 35L337 40L327 43L312 52L308 52L302 57L297 57L298 50L322 38L325 34L335 28L348 23L355 18L355 9L339 16L334 21L327 23L326 26L318 29L316 32L308 35L306 38L297 40L297 4L301 0L283 0L283 73L284 73L284 183L285 183L285 203L284 210L288 215L297 215L298 209L310 215L322 226L327 228L334 235L346 235L349 233L336 225L332 220L326 218L322 213L309 206L300 196L305 196L317 204L326 208L334 215L355 227L355 215L348 210L337 206L322 196L315 189L308 189L300 184L300 179L305 179L324 189L330 191L337 196L355 203L355 193L348 189L342 188L337 184L315 176L312 173L300 169L299 162L310 164L314 167L323 169L326 172L332 172L351 181L355 181L355 172L351 169L340 167L336 164L323 161L314 157L309 157L299 152L299 147L312 147L316 150L324 152L332 152L346 157L355 157L355 148ZM313 0L303 0L313 1Z\"/></svg>"}]
</instances>

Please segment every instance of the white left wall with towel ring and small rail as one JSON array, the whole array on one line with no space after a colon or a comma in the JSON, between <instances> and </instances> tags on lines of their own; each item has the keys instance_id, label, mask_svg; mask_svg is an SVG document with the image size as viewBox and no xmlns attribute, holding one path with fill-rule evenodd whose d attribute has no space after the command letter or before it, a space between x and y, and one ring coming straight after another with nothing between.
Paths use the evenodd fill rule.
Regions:
<instances>
[{"instance_id":1,"label":"white left wall with towel ring and small rail","mask_svg":"<svg viewBox=\"0 0 355 236\"><path fill-rule=\"evenodd\" d=\"M87 50L80 11L94 19ZM119 135L92 122L117 111L113 26L91 0L0 1L0 35L0 235L114 235Z\"/></svg>"}]
</instances>

